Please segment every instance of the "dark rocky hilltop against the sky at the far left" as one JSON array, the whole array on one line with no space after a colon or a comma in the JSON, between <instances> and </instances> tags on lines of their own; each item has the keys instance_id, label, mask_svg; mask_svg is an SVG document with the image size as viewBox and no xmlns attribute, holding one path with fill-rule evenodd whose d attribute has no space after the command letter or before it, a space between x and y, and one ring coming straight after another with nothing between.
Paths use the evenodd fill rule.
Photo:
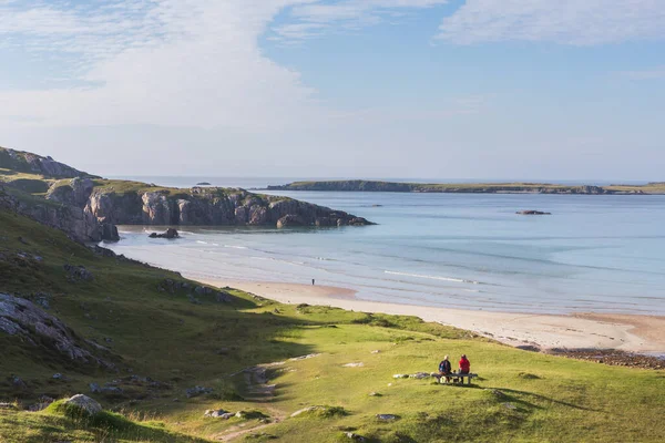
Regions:
<instances>
[{"instance_id":1,"label":"dark rocky hilltop against the sky at the far left","mask_svg":"<svg viewBox=\"0 0 665 443\"><path fill-rule=\"evenodd\" d=\"M88 173L74 169L51 157L0 147L0 167L22 173L39 174L47 178L89 177Z\"/></svg>"}]
</instances>

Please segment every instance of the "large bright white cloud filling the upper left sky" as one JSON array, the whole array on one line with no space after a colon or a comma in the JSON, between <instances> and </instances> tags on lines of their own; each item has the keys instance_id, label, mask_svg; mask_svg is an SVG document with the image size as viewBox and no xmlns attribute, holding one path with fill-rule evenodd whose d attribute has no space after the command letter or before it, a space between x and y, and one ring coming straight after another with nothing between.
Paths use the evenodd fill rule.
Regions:
<instances>
[{"instance_id":1,"label":"large bright white cloud filling the upper left sky","mask_svg":"<svg viewBox=\"0 0 665 443\"><path fill-rule=\"evenodd\" d=\"M0 121L254 128L303 122L315 115L315 91L265 58L257 39L282 8L307 1L0 3L0 35L37 52L75 53L81 84L0 92Z\"/></svg>"}]
</instances>

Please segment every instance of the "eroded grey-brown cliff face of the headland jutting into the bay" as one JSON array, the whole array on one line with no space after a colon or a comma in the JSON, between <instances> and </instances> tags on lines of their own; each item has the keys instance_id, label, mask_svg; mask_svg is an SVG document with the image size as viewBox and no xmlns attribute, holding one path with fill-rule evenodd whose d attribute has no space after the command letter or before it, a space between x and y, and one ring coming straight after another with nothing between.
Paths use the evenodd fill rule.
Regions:
<instances>
[{"instance_id":1,"label":"eroded grey-brown cliff face of the headland jutting into the bay","mask_svg":"<svg viewBox=\"0 0 665 443\"><path fill-rule=\"evenodd\" d=\"M114 192L75 178L48 199L81 208L105 225L364 226L365 218L289 198L244 189L201 188Z\"/></svg>"}]
</instances>

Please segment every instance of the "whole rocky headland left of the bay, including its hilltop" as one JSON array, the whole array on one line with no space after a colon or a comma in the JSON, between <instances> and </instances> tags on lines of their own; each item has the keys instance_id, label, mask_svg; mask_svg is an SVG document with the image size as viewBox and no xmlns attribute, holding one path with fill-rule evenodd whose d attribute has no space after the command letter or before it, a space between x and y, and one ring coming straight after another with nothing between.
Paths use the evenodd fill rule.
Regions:
<instances>
[{"instance_id":1,"label":"whole rocky headland left of the bay, including its hilltop","mask_svg":"<svg viewBox=\"0 0 665 443\"><path fill-rule=\"evenodd\" d=\"M0 148L0 167L14 171L14 175L33 174L31 178L17 179L16 185L12 179L7 179L4 186L0 183L0 205L64 230L78 241L116 241L120 239L116 225L277 228L374 225L342 210L241 188L181 189L102 179L50 157L8 148ZM27 190L38 187L38 193Z\"/></svg>"}]
</instances>

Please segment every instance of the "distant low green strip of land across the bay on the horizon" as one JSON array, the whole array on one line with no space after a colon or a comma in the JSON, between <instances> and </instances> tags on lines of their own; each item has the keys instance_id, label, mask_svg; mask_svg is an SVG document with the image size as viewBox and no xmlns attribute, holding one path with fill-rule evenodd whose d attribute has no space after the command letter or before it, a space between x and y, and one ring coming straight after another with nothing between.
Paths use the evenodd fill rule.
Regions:
<instances>
[{"instance_id":1,"label":"distant low green strip of land across the bay on the horizon","mask_svg":"<svg viewBox=\"0 0 665 443\"><path fill-rule=\"evenodd\" d=\"M266 190L456 193L456 194L580 194L580 195L663 195L665 182L645 185L559 185L550 183L401 183L379 181L293 182L272 185Z\"/></svg>"}]
</instances>

